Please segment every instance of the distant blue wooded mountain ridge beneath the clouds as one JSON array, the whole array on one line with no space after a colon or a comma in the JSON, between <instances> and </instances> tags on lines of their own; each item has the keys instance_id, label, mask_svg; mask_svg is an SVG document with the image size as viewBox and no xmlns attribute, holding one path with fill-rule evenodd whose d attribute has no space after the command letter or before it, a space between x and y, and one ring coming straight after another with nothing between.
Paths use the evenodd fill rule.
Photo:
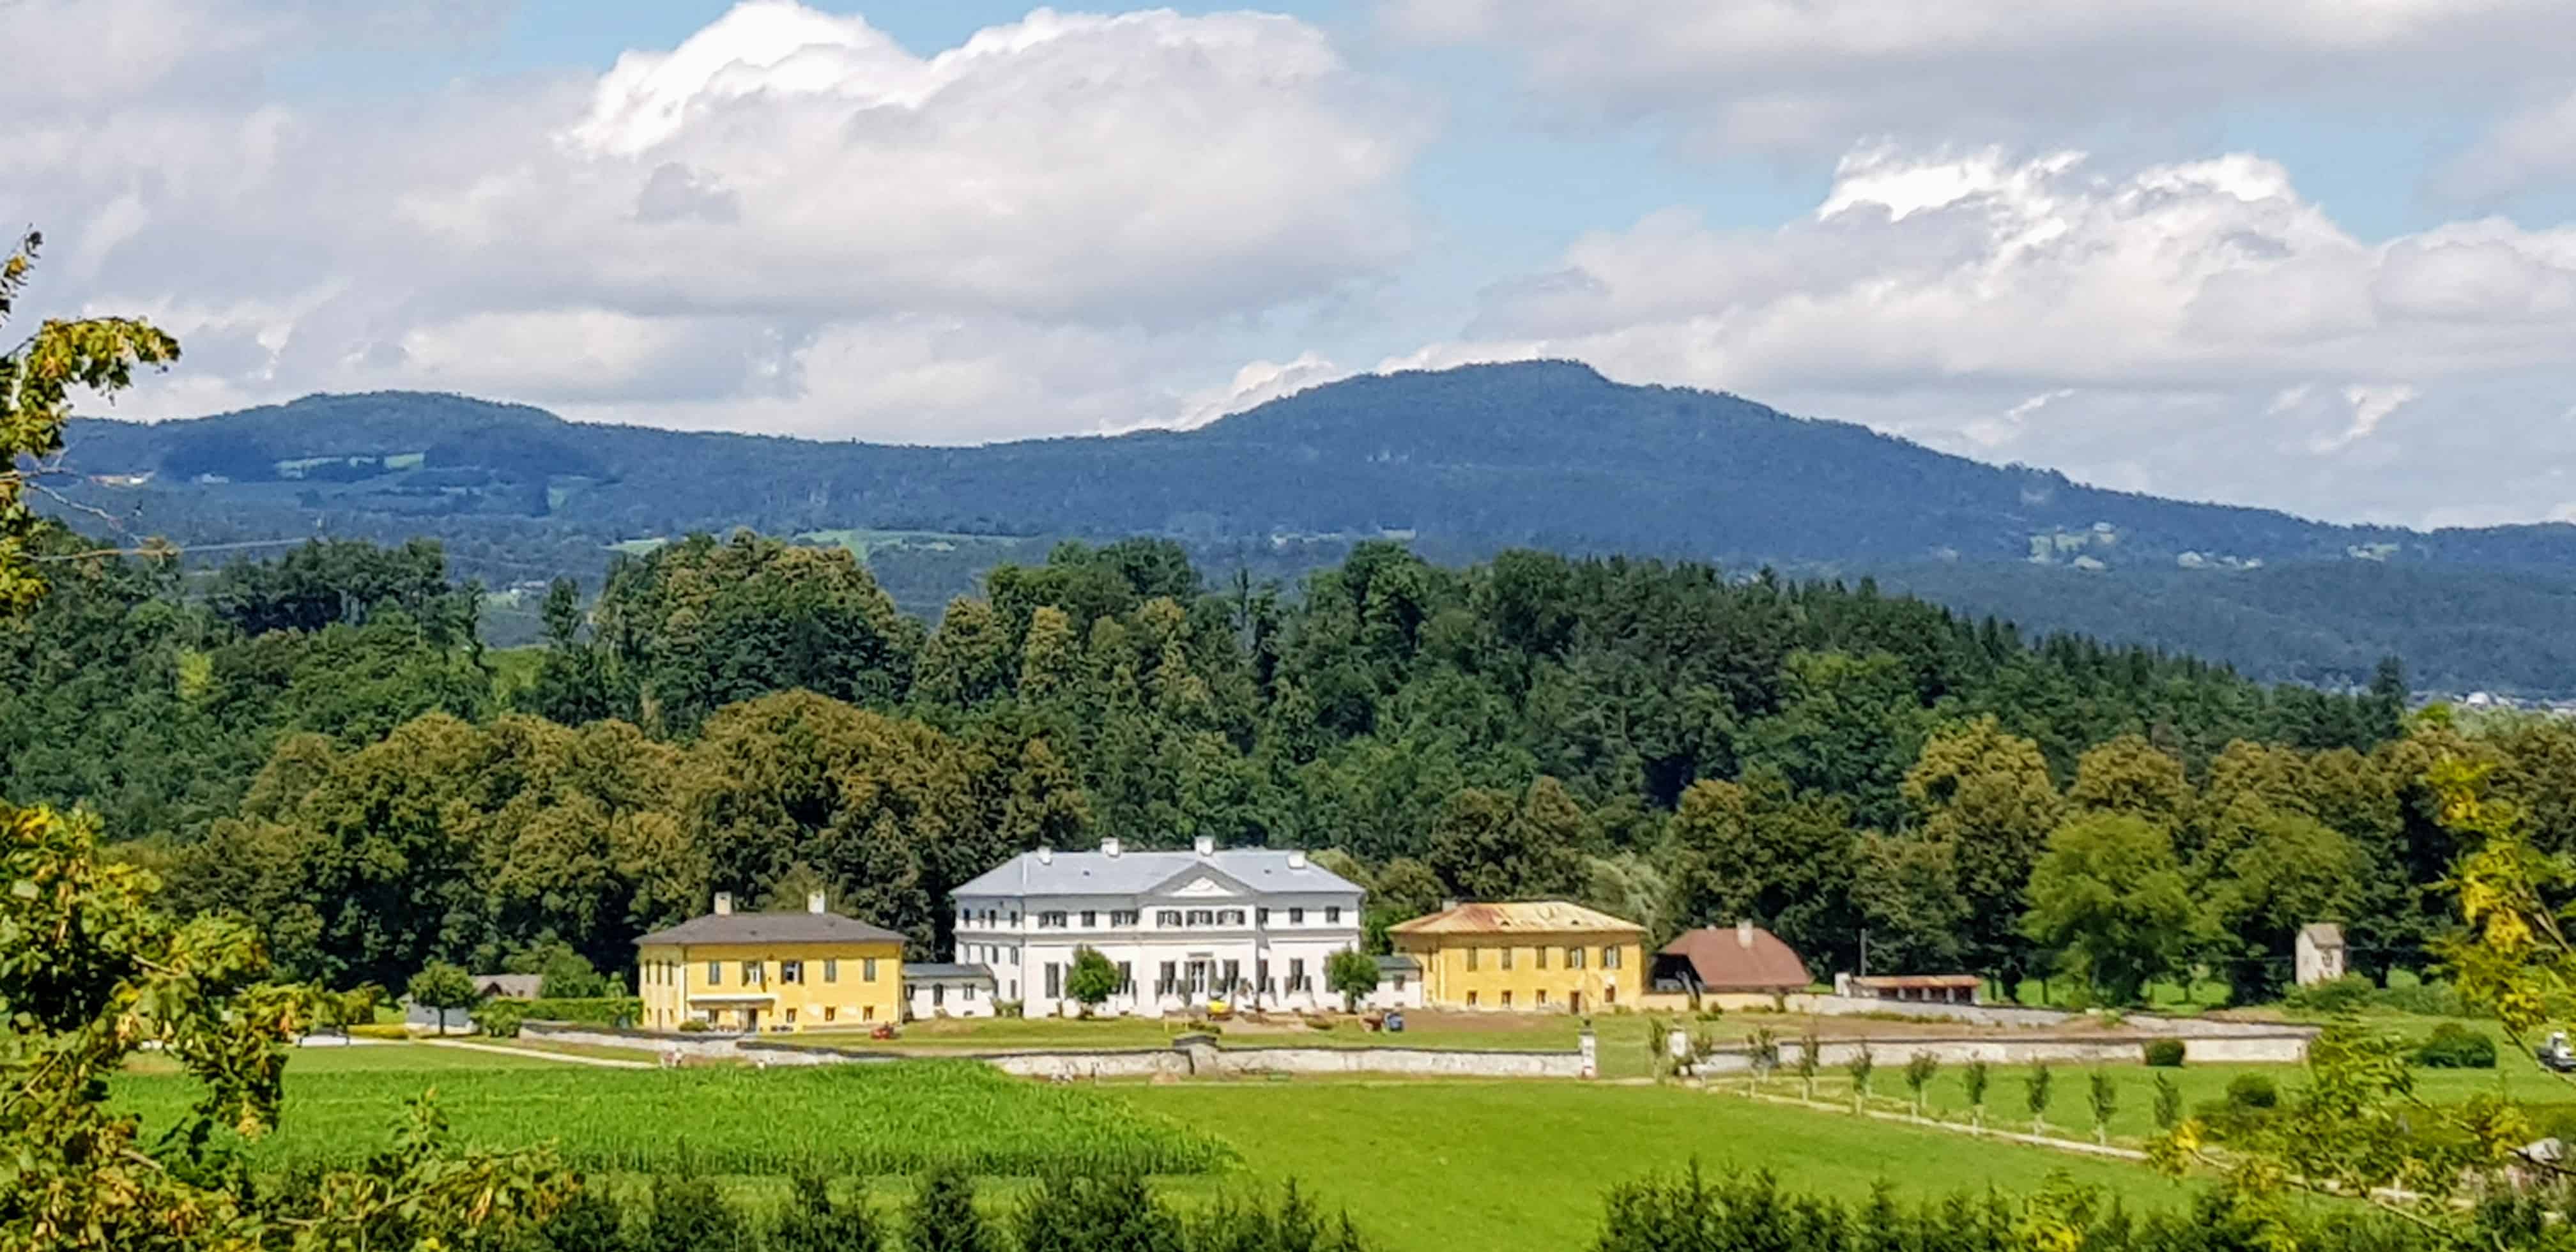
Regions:
<instances>
[{"instance_id":1,"label":"distant blue wooded mountain ridge beneath the clouds","mask_svg":"<svg viewBox=\"0 0 2576 1252\"><path fill-rule=\"evenodd\" d=\"M1437 559L1546 546L1901 569L1950 603L2032 608L2014 613L2030 626L2110 616L2102 634L2308 680L2365 675L2347 652L2375 639L2406 647L2429 678L2488 670L2450 665L2460 639L2421 621L2354 631L2318 618L2391 613L2378 582L2421 593L2421 572L2442 569L2450 593L2517 569L2540 600L2512 613L2537 613L2561 608L2555 580L2576 580L2576 526L2424 533L2107 492L1574 363L1363 376L1200 430L981 448L577 425L446 394L309 397L188 422L77 422L70 464L93 477L88 502L185 544L435 533L497 582L590 577L608 544L752 526L863 544L896 595L930 611L974 569L1059 536L1175 536L1211 567L1262 574L1399 536ZM2244 574L2282 564L2331 569L2326 582L2347 590L2316 593L2313 572ZM2074 569L2105 577L2040 577ZM2308 590L2277 611L2241 605L2246 587L2272 585ZM2246 613L2275 626L2205 647L2210 623ZM2303 654L2303 639L2321 654ZM2483 639L2481 652L2496 647ZM2524 652L2576 649L2535 636Z\"/></svg>"}]
</instances>

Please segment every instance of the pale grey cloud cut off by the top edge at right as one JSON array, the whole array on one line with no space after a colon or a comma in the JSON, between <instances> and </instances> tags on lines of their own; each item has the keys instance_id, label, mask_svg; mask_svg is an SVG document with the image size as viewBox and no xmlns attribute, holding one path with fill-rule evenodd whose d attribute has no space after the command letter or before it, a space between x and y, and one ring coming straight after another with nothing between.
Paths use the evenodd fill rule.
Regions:
<instances>
[{"instance_id":1,"label":"pale grey cloud cut off by the top edge at right","mask_svg":"<svg viewBox=\"0 0 2576 1252\"><path fill-rule=\"evenodd\" d=\"M1378 0L1378 13L1412 39L1512 54L1579 116L1808 155L1865 134L2213 134L2208 119L2244 106L2483 111L2566 90L2576 44L2563 0Z\"/></svg>"}]
</instances>

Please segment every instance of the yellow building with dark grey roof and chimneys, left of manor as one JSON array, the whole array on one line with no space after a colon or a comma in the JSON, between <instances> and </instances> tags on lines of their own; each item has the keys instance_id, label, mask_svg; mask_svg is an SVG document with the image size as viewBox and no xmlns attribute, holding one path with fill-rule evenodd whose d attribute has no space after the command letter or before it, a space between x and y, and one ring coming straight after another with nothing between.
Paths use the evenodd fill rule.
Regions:
<instances>
[{"instance_id":1,"label":"yellow building with dark grey roof and chimneys, left of manor","mask_svg":"<svg viewBox=\"0 0 2576 1252\"><path fill-rule=\"evenodd\" d=\"M904 935L824 912L716 912L636 940L644 1028L814 1030L904 1018Z\"/></svg>"}]
</instances>

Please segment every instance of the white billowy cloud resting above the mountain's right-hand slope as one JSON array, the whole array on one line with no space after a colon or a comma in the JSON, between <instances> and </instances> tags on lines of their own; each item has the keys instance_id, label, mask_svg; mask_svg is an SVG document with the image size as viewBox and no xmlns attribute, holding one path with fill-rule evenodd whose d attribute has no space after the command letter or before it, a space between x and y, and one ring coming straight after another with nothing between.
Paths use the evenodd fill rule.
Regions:
<instances>
[{"instance_id":1,"label":"white billowy cloud resting above the mountain's right-hand slope","mask_svg":"<svg viewBox=\"0 0 2576 1252\"><path fill-rule=\"evenodd\" d=\"M2362 242L2249 155L2105 173L1870 147L1777 229L1659 211L1584 234L1401 363L1571 356L1984 459L2416 520L2576 456L2571 340L2576 229ZM2478 438L2522 453L2478 466Z\"/></svg>"}]
</instances>

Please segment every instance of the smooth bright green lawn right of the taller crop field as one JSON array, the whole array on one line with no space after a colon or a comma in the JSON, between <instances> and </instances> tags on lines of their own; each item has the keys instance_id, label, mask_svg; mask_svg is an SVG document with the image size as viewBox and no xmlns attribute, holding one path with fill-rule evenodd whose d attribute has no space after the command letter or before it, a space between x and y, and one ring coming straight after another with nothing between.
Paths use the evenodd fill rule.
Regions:
<instances>
[{"instance_id":1,"label":"smooth bright green lawn right of the taller crop field","mask_svg":"<svg viewBox=\"0 0 2576 1252\"><path fill-rule=\"evenodd\" d=\"M2133 1203L2182 1195L2141 1164L1687 1087L1278 1082L1121 1095L1216 1131L1262 1185L1298 1177L1327 1211L1347 1208L1391 1252L1584 1247L1605 1188L1692 1159L1710 1170L1767 1167L1793 1190L1832 1195L1865 1195L1880 1180L1911 1195L2030 1190L2053 1172Z\"/></svg>"}]
</instances>

